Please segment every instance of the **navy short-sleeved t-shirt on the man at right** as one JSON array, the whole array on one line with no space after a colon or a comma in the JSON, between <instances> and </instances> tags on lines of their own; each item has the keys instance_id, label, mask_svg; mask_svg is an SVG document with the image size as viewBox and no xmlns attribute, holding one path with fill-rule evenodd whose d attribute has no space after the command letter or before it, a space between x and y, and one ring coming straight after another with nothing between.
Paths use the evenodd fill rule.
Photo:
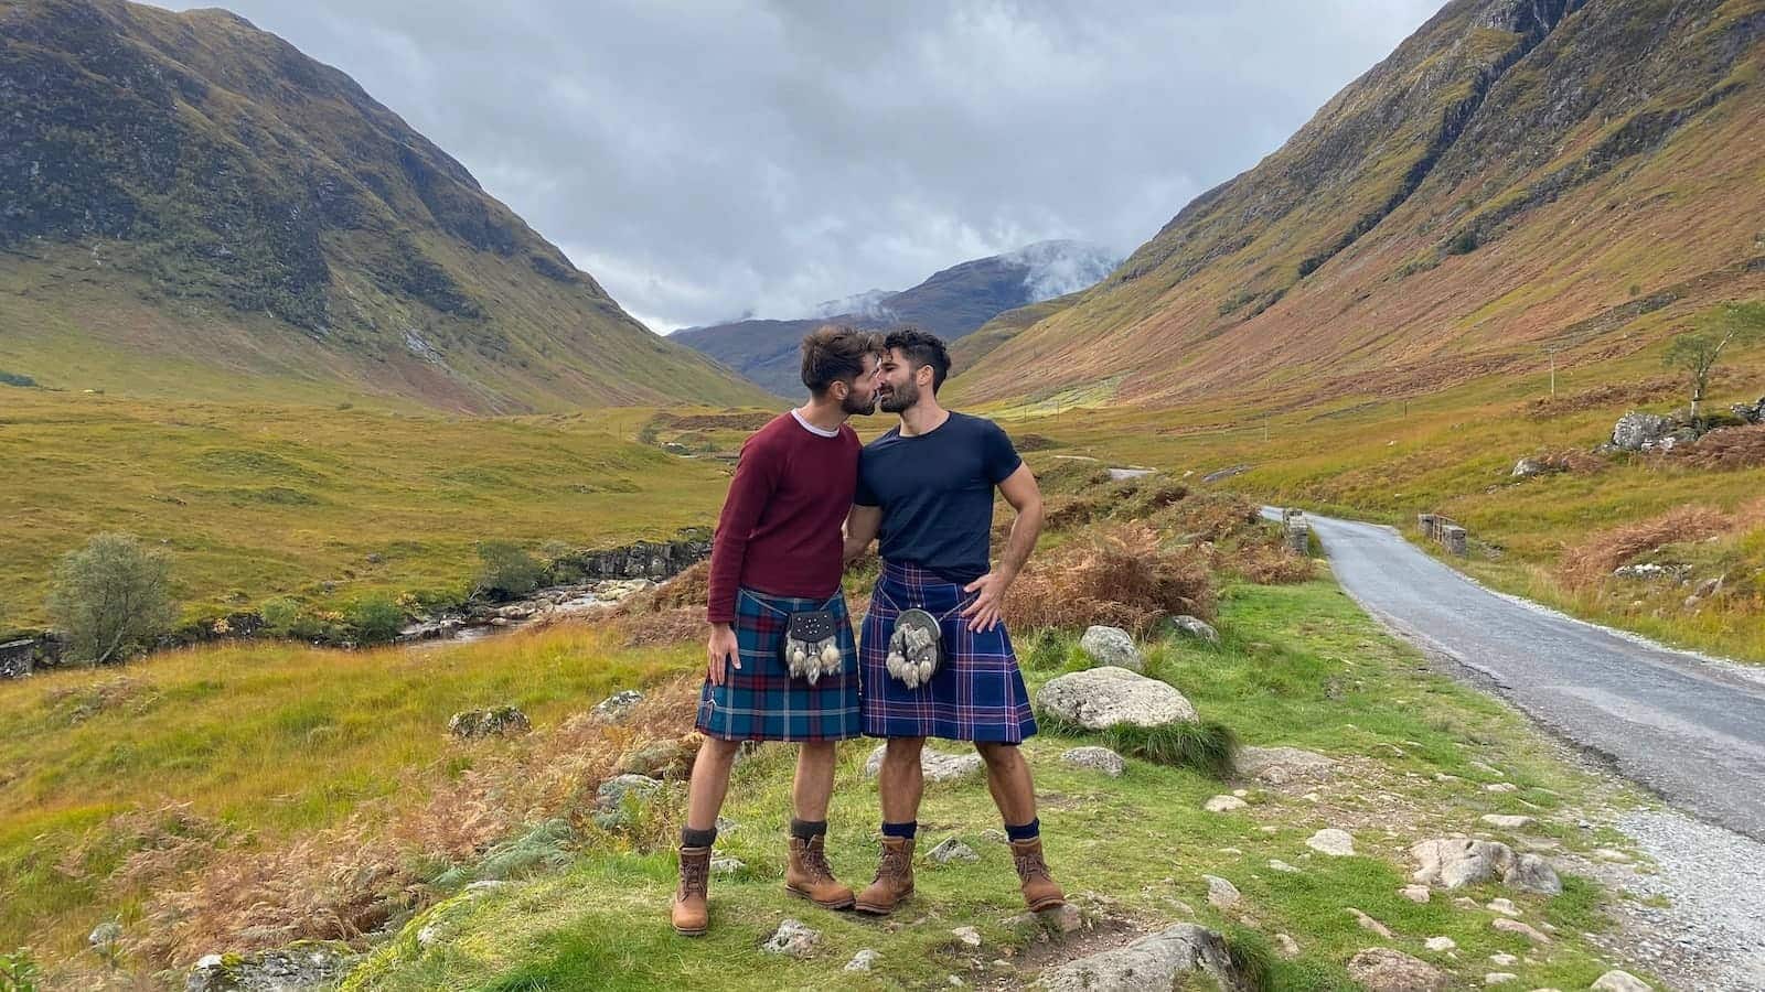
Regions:
<instances>
[{"instance_id":1,"label":"navy short-sleeved t-shirt on the man at right","mask_svg":"<svg viewBox=\"0 0 1765 992\"><path fill-rule=\"evenodd\" d=\"M951 413L928 434L895 427L865 445L856 501L882 507L884 560L973 582L988 568L994 487L1020 464L997 424Z\"/></svg>"}]
</instances>

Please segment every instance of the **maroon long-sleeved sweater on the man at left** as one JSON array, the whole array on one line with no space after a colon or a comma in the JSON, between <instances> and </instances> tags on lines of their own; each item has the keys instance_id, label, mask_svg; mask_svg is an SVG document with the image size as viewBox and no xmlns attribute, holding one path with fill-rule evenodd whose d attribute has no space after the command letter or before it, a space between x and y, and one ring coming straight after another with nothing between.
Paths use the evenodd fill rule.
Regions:
<instances>
[{"instance_id":1,"label":"maroon long-sleeved sweater on the man at left","mask_svg":"<svg viewBox=\"0 0 1765 992\"><path fill-rule=\"evenodd\" d=\"M711 542L711 623L736 620L736 588L817 598L838 590L860 450L849 425L822 438L789 411L741 445Z\"/></svg>"}]
</instances>

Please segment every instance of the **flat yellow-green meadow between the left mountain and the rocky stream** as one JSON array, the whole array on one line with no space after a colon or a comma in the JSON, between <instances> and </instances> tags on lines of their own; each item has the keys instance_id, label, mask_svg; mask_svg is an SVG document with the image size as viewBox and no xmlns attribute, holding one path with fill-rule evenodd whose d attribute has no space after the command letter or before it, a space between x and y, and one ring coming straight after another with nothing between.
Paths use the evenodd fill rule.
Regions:
<instances>
[{"instance_id":1,"label":"flat yellow-green meadow between the left mountain and the rocky stream","mask_svg":"<svg viewBox=\"0 0 1765 992\"><path fill-rule=\"evenodd\" d=\"M55 560L106 530L171 554L187 612L274 595L459 595L473 545L708 526L727 466L637 443L646 410L526 418L154 402L0 387L0 627L44 620Z\"/></svg>"}]
</instances>

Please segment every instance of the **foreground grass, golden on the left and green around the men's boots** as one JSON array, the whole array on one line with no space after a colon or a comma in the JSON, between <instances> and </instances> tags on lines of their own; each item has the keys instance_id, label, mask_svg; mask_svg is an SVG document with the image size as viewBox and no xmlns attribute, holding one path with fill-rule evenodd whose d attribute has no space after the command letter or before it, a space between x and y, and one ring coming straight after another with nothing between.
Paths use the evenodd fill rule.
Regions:
<instances>
[{"instance_id":1,"label":"foreground grass, golden on the left and green around the men's boots","mask_svg":"<svg viewBox=\"0 0 1765 992\"><path fill-rule=\"evenodd\" d=\"M432 909L409 921L392 916L397 936L379 943L349 987L678 988L715 976L731 988L893 988L943 985L948 974L1017 987L1080 946L1188 918L1223 928L1267 962L1269 987L1281 990L1350 988L1347 958L1375 944L1417 953L1463 981L1481 980L1486 955L1498 951L1523 957L1509 971L1532 985L1585 987L1608 967L1585 937L1610 927L1601 906L1611 897L1592 881L1569 877L1557 898L1468 890L1479 906L1513 897L1525 920L1555 927L1543 951L1491 930L1495 913L1458 909L1438 895L1416 906L1396 893L1407 844L1474 828L1486 812L1536 815L1541 842L1571 851L1611 844L1606 831L1573 826L1613 800L1608 787L1564 764L1506 706L1423 671L1327 581L1234 586L1220 627L1221 648L1156 641L1151 671L1246 743L1310 747L1345 768L1320 782L1241 784L1248 810L1209 814L1202 803L1230 785L1200 771L1130 757L1126 775L1110 780L1057 759L1094 740L1034 738L1029 754L1052 868L1094 927L1082 944L1038 944L1010 923L1020 902L1008 858L985 837L997 814L980 782L932 785L921 815L927 847L958 837L980 861L920 868L920 893L897 918L874 923L787 900L778 876L791 755L773 747L738 770L725 810L736 826L720 844L747 867L713 881L711 936L676 939L665 904L678 784L630 831L579 826L560 835L535 826L545 817L586 824L581 805L611 773L612 755L634 740L687 729L697 648L630 650L568 627L434 653L198 650L138 665L125 681L60 673L0 685L0 715L19 729L4 745L14 775L0 782L0 877L9 886L0 941L34 948L64 980L90 980L99 966L79 950L83 934L116 913L138 941L125 969L143 974L155 966L148 955L168 948L187 964L210 950L275 943L275 934L325 934L323 907L406 904L418 893L417 904ZM1071 632L1022 641L1033 685L1082 665ZM669 685L671 674L685 680ZM611 688L644 683L655 708L632 727L570 718ZM526 708L535 734L447 740L450 710L491 701ZM210 757L189 763L194 747ZM875 787L861 773L868 750L867 741L842 747L830 817L830 853L847 879L874 868ZM1520 791L1486 793L1481 785L1493 777L1477 761L1498 766ZM547 784L515 785L528 778ZM1303 842L1320 826L1350 830L1359 856L1313 856ZM1267 867L1271 858L1301 872L1280 874ZM1204 872L1234 881L1244 906L1209 906ZM514 884L455 897L469 879ZM379 895L351 900L351 886ZM247 921L237 916L252 900L249 923L259 936L238 937ZM23 911L26 904L35 911ZM176 927L152 921L171 906L196 916ZM1396 937L1364 932L1348 906ZM808 960L755 951L784 916L824 932ZM281 928L288 923L293 930ZM950 934L962 925L981 932L980 950ZM1299 957L1278 958L1274 934L1292 936ZM180 936L191 943L180 944ZM1458 955L1424 951L1421 941L1431 936L1451 936ZM877 969L842 974L865 946L879 951Z\"/></svg>"}]
</instances>

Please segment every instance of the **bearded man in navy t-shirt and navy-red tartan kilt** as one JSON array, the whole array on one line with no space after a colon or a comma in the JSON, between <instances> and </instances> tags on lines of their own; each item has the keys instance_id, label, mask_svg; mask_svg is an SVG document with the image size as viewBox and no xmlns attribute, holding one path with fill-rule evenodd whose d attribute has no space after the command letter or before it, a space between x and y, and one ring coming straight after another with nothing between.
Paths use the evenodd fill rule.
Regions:
<instances>
[{"instance_id":1,"label":"bearded man in navy t-shirt and navy-red tartan kilt","mask_svg":"<svg viewBox=\"0 0 1765 992\"><path fill-rule=\"evenodd\" d=\"M1001 621L1004 593L1041 533L1041 491L997 424L939 406L950 372L944 342L916 328L884 341L877 397L900 425L858 459L858 494L845 522L845 556L881 535L882 575L860 646L863 731L888 738L879 793L882 861L856 909L884 914L913 893L913 845L925 782L925 738L973 741L1004 817L1011 856L1033 911L1064 902L1048 876L1036 819L1036 785L1017 745L1036 733L1029 690ZM988 565L994 489L1017 519ZM890 637L902 611L939 627L943 662L923 685L890 674Z\"/></svg>"}]
</instances>

